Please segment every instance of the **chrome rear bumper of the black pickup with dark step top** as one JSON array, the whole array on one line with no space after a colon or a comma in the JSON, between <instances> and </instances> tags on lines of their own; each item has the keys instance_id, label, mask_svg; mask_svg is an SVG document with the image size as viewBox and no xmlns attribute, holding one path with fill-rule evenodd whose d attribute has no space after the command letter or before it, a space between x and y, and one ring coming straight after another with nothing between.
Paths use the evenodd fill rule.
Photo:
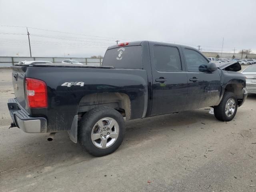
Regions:
<instances>
[{"instance_id":1,"label":"chrome rear bumper of the black pickup with dark step top","mask_svg":"<svg viewBox=\"0 0 256 192\"><path fill-rule=\"evenodd\" d=\"M26 133L46 132L47 120L43 117L30 117L28 112L20 106L16 98L8 100L8 109L14 124Z\"/></svg>"}]
</instances>

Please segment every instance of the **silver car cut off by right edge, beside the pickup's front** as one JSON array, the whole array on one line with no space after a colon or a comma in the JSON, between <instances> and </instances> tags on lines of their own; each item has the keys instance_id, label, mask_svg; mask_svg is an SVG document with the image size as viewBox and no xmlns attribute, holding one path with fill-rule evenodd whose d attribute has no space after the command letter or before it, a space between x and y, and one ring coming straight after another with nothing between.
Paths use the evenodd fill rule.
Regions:
<instances>
[{"instance_id":1,"label":"silver car cut off by right edge, beside the pickup's front","mask_svg":"<svg viewBox=\"0 0 256 192\"><path fill-rule=\"evenodd\" d=\"M242 71L246 77L246 88L248 93L256 93L256 64L252 64Z\"/></svg>"}]
</instances>

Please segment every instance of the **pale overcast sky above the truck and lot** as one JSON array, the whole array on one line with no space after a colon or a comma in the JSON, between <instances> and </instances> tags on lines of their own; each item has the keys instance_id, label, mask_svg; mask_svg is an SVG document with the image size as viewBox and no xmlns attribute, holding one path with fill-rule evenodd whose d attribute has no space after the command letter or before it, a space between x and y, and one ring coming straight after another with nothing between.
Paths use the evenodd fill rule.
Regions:
<instances>
[{"instance_id":1,"label":"pale overcast sky above the truck and lot","mask_svg":"<svg viewBox=\"0 0 256 192\"><path fill-rule=\"evenodd\" d=\"M11 27L15 26L15 27ZM90 57L134 40L256 53L256 0L0 0L0 56Z\"/></svg>"}]
</instances>

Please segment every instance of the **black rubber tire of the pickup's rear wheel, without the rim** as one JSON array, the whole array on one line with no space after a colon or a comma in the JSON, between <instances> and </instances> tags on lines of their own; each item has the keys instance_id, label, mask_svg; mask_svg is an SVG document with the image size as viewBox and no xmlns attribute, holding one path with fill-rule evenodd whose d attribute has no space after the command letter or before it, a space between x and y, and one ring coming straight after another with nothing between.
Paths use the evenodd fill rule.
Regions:
<instances>
[{"instance_id":1,"label":"black rubber tire of the pickup's rear wheel, without the rim","mask_svg":"<svg viewBox=\"0 0 256 192\"><path fill-rule=\"evenodd\" d=\"M115 142L108 148L96 147L91 139L91 133L94 125L102 118L113 118L119 127L119 134ZM104 130L105 131L105 130ZM98 107L94 108L82 117L78 128L78 142L82 147L93 156L104 156L114 152L121 144L124 139L125 126L123 116L115 109L110 107ZM103 138L104 139L104 138ZM110 138L111 140L112 138ZM103 140L100 138L99 141Z\"/></svg>"}]
</instances>

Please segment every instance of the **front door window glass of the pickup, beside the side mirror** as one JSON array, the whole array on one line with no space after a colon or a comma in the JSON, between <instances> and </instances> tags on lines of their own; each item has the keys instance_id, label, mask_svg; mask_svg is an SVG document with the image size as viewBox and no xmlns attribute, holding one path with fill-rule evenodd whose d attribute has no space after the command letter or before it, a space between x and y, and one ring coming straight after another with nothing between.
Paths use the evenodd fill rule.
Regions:
<instances>
[{"instance_id":1,"label":"front door window glass of the pickup, beside the side mirror","mask_svg":"<svg viewBox=\"0 0 256 192\"><path fill-rule=\"evenodd\" d=\"M185 49L184 54L189 72L203 72L207 68L208 60L200 53Z\"/></svg>"}]
</instances>

